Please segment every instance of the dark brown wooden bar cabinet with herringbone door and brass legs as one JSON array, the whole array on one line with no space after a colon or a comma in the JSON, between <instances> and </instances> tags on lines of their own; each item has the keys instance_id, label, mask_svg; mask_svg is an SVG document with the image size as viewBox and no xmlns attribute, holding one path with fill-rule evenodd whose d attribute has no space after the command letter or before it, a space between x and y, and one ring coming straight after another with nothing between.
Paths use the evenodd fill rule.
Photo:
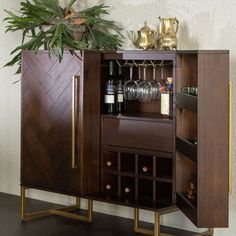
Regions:
<instances>
[{"instance_id":1,"label":"dark brown wooden bar cabinet with herringbone door and brass legs","mask_svg":"<svg viewBox=\"0 0 236 236\"><path fill-rule=\"evenodd\" d=\"M124 114L105 114L109 61L161 65L157 78L174 80L173 116L160 115L160 100L126 101ZM128 80L129 68L122 73ZM198 95L183 93L186 86ZM24 52L22 219L25 190L33 188L75 196L75 207L88 199L90 213L93 200L134 207L136 232L159 235L157 225L154 233L139 228L138 209L178 208L197 227L227 227L229 99L228 51L65 52L61 63L47 51ZM195 202L185 194L193 180Z\"/></svg>"}]
</instances>

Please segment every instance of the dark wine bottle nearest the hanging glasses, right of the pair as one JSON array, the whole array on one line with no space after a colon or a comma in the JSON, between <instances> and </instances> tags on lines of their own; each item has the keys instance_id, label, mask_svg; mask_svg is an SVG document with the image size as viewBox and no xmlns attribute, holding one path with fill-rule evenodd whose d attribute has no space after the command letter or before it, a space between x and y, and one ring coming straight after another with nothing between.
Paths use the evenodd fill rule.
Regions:
<instances>
[{"instance_id":1,"label":"dark wine bottle nearest the hanging glasses, right of the pair","mask_svg":"<svg viewBox=\"0 0 236 236\"><path fill-rule=\"evenodd\" d=\"M116 111L117 113L124 112L124 77L121 72L121 66L119 66L119 75L117 79L117 105Z\"/></svg>"}]
</instances>

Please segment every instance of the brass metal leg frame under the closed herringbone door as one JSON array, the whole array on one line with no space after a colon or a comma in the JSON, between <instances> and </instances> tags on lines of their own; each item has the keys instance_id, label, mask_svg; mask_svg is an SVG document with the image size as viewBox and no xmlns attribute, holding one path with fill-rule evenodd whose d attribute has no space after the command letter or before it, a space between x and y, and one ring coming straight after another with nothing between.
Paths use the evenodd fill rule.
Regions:
<instances>
[{"instance_id":1,"label":"brass metal leg frame under the closed herringbone door","mask_svg":"<svg viewBox=\"0 0 236 236\"><path fill-rule=\"evenodd\" d=\"M49 209L49 210L43 210L43 211L35 211L31 213L26 213L25 211L25 193L28 188L21 186L21 220L22 221L29 221L36 218L41 218L49 215L57 215L57 216L63 216L66 218L71 218L74 220L80 220L85 222L92 222L92 213L93 213L93 201L88 200L88 214L87 216L78 215L75 213L70 213L70 211L74 211L77 209L80 209L80 198L76 198L76 204L73 206L63 207L59 209Z\"/></svg>"}]
</instances>

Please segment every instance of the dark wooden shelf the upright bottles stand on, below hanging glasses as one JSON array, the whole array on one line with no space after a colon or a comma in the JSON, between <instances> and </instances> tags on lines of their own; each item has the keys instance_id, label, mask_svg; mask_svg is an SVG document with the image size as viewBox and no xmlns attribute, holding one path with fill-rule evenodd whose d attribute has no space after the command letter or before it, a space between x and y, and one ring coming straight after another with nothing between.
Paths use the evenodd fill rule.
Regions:
<instances>
[{"instance_id":1,"label":"dark wooden shelf the upright bottles stand on, below hanging glasses","mask_svg":"<svg viewBox=\"0 0 236 236\"><path fill-rule=\"evenodd\" d=\"M142 120L142 121L157 121L173 123L173 119L163 118L160 113L154 112L127 112L123 114L102 114L104 118L114 118L114 119L129 119L129 120Z\"/></svg>"}]
</instances>

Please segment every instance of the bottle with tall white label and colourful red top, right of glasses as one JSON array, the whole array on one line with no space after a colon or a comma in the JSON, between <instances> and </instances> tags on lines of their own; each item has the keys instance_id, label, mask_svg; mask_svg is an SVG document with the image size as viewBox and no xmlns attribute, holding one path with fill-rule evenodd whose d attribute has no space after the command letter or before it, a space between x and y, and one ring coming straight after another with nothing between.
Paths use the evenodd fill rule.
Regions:
<instances>
[{"instance_id":1,"label":"bottle with tall white label and colourful red top, right of glasses","mask_svg":"<svg viewBox=\"0 0 236 236\"><path fill-rule=\"evenodd\" d=\"M161 81L161 115L164 118L172 116L172 96L173 95L173 78L168 77Z\"/></svg>"}]
</instances>

